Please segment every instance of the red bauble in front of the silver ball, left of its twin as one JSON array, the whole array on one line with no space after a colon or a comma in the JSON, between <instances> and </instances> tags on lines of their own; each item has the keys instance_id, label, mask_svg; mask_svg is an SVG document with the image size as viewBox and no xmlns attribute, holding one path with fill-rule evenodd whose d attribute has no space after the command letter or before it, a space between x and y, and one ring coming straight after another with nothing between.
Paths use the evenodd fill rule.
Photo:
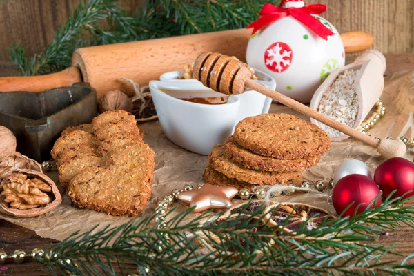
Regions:
<instances>
[{"instance_id":1,"label":"red bauble in front of the silver ball, left of its twin","mask_svg":"<svg viewBox=\"0 0 414 276\"><path fill-rule=\"evenodd\" d=\"M333 207L339 215L346 207L353 203L344 213L344 216L353 217L355 209L359 204L362 205L358 207L357 214L364 211L368 207L368 204L380 195L380 193L380 188L370 177L365 175L347 175L346 177L342 177L333 188ZM375 208L379 207L381 204L382 199L378 197L371 208L374 205Z\"/></svg>"}]
</instances>

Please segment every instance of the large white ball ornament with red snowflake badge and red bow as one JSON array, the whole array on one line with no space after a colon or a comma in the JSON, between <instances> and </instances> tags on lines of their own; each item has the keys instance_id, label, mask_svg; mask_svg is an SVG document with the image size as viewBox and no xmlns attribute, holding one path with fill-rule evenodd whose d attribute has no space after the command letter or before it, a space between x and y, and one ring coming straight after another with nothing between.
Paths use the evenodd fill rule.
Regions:
<instances>
[{"instance_id":1,"label":"large white ball ornament with red snowflake badge and red bow","mask_svg":"<svg viewBox=\"0 0 414 276\"><path fill-rule=\"evenodd\" d=\"M344 66L345 51L335 27L319 17L326 6L305 6L285 0L279 7L266 3L253 28L246 61L273 77L277 91L309 103L324 79Z\"/></svg>"}]
</instances>

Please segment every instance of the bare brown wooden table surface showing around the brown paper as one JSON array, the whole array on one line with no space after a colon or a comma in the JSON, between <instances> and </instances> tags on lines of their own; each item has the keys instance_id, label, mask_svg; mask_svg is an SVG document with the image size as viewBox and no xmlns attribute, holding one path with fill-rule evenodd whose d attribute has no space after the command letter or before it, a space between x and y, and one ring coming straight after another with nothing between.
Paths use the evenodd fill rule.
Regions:
<instances>
[{"instance_id":1,"label":"bare brown wooden table surface showing around the brown paper","mask_svg":"<svg viewBox=\"0 0 414 276\"><path fill-rule=\"evenodd\" d=\"M348 58L351 62L353 57ZM386 55L387 70L386 75L403 70L414 70L414 53L404 55ZM0 76L10 75L10 69L0 66ZM397 252L402 255L413 253L414 230L411 228L402 228L399 231L392 231L389 235L380 237L377 244L392 246L394 244ZM50 242L57 242L53 239L43 239L36 235L34 231L28 230L21 226L10 224L8 221L0 219L0 250L6 250L6 253L12 254L14 250L22 249L30 253L33 248L44 248ZM48 275L41 270L41 265L37 263L7 264L8 269L0 271L3 275Z\"/></svg>"}]
</instances>

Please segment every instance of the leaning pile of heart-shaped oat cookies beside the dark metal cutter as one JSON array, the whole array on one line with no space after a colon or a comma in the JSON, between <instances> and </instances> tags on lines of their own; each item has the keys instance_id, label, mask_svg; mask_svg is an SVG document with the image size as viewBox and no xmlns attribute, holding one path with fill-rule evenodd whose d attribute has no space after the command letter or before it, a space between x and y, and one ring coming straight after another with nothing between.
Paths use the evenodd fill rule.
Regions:
<instances>
[{"instance_id":1,"label":"leaning pile of heart-shaped oat cookies beside the dark metal cutter","mask_svg":"<svg viewBox=\"0 0 414 276\"><path fill-rule=\"evenodd\" d=\"M134 115L124 110L63 131L52 157L74 204L136 216L148 204L154 175L154 151L142 138Z\"/></svg>"}]
</instances>

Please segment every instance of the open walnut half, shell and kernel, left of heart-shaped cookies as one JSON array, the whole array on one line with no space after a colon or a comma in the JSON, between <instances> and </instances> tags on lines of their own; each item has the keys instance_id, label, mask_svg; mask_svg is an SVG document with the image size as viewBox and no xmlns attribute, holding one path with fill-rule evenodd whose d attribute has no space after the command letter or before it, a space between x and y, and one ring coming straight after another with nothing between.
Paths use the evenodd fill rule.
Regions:
<instances>
[{"instance_id":1,"label":"open walnut half, shell and kernel, left of heart-shaped cookies","mask_svg":"<svg viewBox=\"0 0 414 276\"><path fill-rule=\"evenodd\" d=\"M14 217L34 217L61 204L55 183L36 170L10 170L0 183L0 212Z\"/></svg>"}]
</instances>

